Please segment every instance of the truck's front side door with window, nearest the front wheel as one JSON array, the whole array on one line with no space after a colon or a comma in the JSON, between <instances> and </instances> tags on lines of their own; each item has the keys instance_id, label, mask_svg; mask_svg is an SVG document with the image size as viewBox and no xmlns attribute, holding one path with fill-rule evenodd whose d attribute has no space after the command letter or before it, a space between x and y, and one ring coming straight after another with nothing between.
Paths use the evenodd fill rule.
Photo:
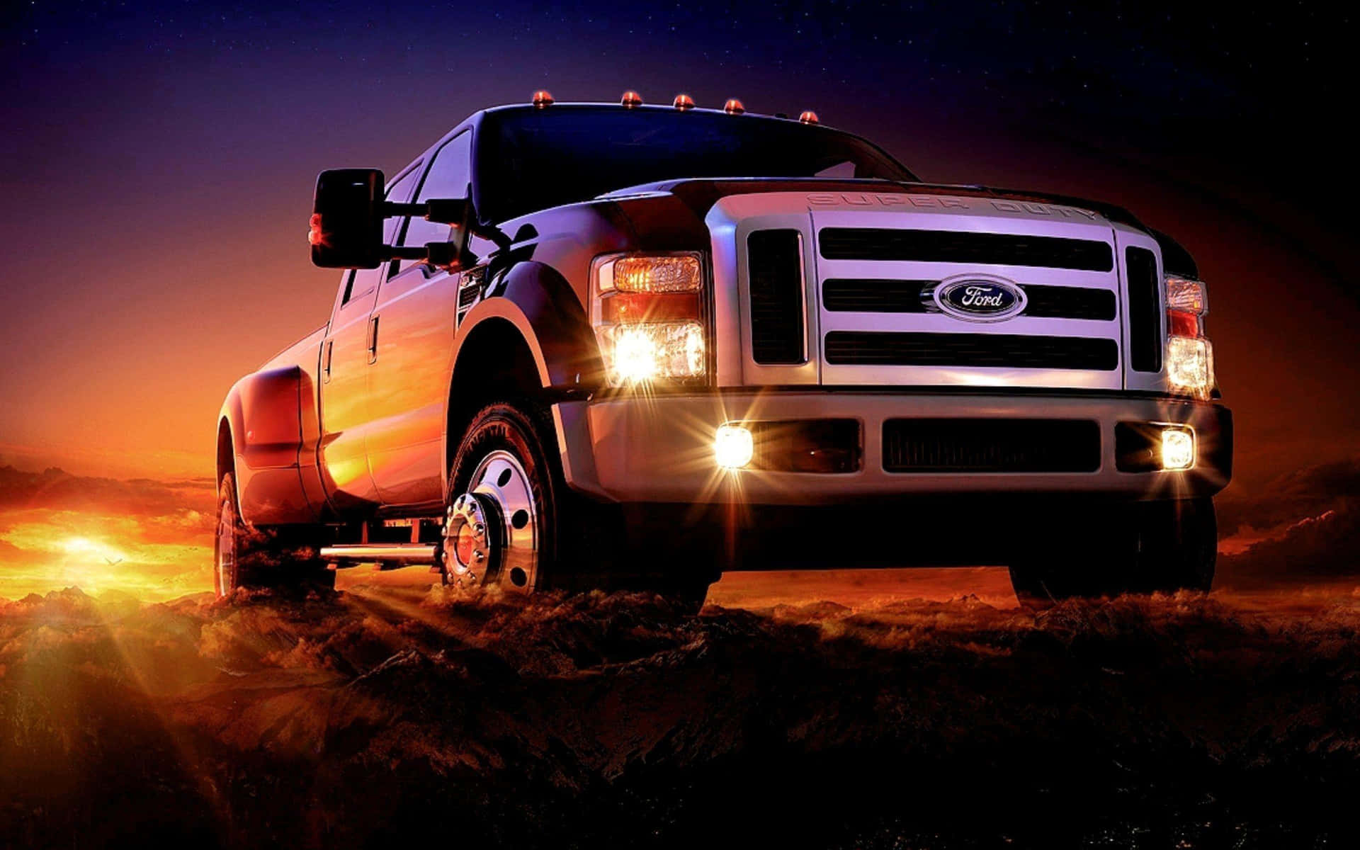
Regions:
<instances>
[{"instance_id":1,"label":"truck's front side door with window, nearest the front wheel","mask_svg":"<svg viewBox=\"0 0 1360 850\"><path fill-rule=\"evenodd\" d=\"M435 152L418 201L468 196L472 132L462 131ZM401 245L445 242L452 230L424 219L403 224ZM443 431L453 369L461 275L403 261L378 290L371 325L377 332L369 367L373 426L369 469L384 505L443 500Z\"/></svg>"}]
</instances>

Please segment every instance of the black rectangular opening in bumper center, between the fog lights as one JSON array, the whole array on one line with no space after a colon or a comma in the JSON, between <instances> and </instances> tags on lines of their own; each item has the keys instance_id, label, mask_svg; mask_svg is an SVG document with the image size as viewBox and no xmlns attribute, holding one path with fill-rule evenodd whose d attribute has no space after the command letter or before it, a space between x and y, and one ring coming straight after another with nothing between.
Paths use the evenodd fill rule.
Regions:
<instances>
[{"instance_id":1,"label":"black rectangular opening in bumper center, between the fog lights","mask_svg":"<svg viewBox=\"0 0 1360 850\"><path fill-rule=\"evenodd\" d=\"M1100 426L1070 419L889 419L887 472L1095 472Z\"/></svg>"}]
</instances>

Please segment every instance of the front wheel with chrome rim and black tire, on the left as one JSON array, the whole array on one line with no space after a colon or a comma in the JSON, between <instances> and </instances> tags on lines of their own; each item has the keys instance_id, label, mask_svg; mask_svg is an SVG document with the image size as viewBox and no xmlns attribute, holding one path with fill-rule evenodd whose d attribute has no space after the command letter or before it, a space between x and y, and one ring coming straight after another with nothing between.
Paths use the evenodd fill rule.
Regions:
<instances>
[{"instance_id":1,"label":"front wheel with chrome rim and black tire, on the left","mask_svg":"<svg viewBox=\"0 0 1360 850\"><path fill-rule=\"evenodd\" d=\"M707 581L658 573L658 554L649 558L623 544L616 507L567 486L552 420L529 401L496 401L477 411L450 464L447 498L446 583L498 585L517 594L650 590L685 612L703 605ZM630 568L639 562L651 568Z\"/></svg>"}]
</instances>

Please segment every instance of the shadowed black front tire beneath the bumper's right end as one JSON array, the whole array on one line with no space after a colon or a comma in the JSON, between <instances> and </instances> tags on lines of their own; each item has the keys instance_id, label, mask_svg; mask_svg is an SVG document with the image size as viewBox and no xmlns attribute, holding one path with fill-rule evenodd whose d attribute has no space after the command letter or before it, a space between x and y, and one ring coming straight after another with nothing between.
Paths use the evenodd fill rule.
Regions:
<instances>
[{"instance_id":1,"label":"shadowed black front tire beneath the bumper's right end","mask_svg":"<svg viewBox=\"0 0 1360 850\"><path fill-rule=\"evenodd\" d=\"M1010 563L1020 602L1121 593L1208 593L1217 560L1219 525L1210 499L1146 502L1064 534L1065 548L1031 547Z\"/></svg>"}]
</instances>

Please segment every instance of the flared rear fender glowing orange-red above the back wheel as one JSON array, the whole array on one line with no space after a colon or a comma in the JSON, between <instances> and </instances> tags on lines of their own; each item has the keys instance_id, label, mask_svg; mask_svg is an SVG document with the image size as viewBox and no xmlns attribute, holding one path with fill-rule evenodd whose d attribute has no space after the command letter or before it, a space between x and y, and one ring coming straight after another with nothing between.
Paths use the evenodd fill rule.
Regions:
<instances>
[{"instance_id":1,"label":"flared rear fender glowing orange-red above the back wheel","mask_svg":"<svg viewBox=\"0 0 1360 850\"><path fill-rule=\"evenodd\" d=\"M284 366L246 375L227 393L218 422L224 420L231 434L237 503L246 522L317 521L299 464L302 404L313 392L302 369Z\"/></svg>"}]
</instances>

